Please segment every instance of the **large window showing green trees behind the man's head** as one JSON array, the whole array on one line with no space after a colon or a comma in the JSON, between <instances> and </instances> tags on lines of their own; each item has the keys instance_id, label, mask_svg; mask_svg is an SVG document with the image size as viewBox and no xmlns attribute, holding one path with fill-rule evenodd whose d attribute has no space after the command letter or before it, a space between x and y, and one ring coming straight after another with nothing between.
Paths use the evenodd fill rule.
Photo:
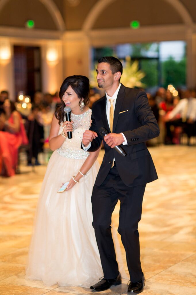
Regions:
<instances>
[{"instance_id":1,"label":"large window showing green trees behind the man's head","mask_svg":"<svg viewBox=\"0 0 196 295\"><path fill-rule=\"evenodd\" d=\"M156 86L177 87L186 85L186 42L168 41L153 43L119 44L92 49L92 67L102 56L116 56L125 60L138 61L138 69L145 73L142 78L145 88Z\"/></svg>"}]
</instances>

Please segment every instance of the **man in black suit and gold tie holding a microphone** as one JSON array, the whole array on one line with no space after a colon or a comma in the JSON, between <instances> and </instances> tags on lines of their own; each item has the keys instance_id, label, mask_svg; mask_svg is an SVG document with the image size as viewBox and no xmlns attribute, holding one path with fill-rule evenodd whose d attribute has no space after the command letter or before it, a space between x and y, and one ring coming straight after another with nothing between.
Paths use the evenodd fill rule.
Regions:
<instances>
[{"instance_id":1,"label":"man in black suit and gold tie holding a microphone","mask_svg":"<svg viewBox=\"0 0 196 295\"><path fill-rule=\"evenodd\" d=\"M122 63L114 57L98 60L97 82L106 95L92 106L92 125L82 139L82 148L93 152L104 139L105 155L92 192L93 227L99 248L104 278L91 289L103 291L121 284L114 243L111 216L120 200L119 227L130 274L128 293L138 294L144 288L139 251L138 222L146 183L157 179L157 173L145 141L159 135L159 127L143 91L123 86ZM99 128L109 134L102 137ZM126 156L114 147L121 145Z\"/></svg>"}]
</instances>

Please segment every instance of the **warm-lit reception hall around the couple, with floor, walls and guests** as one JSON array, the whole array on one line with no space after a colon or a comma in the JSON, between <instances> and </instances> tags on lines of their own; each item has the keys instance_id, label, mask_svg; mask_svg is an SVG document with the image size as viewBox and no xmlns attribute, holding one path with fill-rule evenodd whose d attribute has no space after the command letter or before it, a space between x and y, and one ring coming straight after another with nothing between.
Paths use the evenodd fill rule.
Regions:
<instances>
[{"instance_id":1,"label":"warm-lit reception hall around the couple, with floor, walls and guests","mask_svg":"<svg viewBox=\"0 0 196 295\"><path fill-rule=\"evenodd\" d=\"M118 233L126 273L119 286L97 293L46 286L25 271L60 86L67 76L89 77L91 108L105 94L97 60L114 56L123 65L121 83L147 93L160 128L146 142L158 179L146 186L139 222L142 294L196 295L195 11L193 0L0 0L0 294L127 294ZM13 111L21 142L9 129ZM101 149L99 164L103 157ZM112 214L116 232L119 208Z\"/></svg>"}]
</instances>

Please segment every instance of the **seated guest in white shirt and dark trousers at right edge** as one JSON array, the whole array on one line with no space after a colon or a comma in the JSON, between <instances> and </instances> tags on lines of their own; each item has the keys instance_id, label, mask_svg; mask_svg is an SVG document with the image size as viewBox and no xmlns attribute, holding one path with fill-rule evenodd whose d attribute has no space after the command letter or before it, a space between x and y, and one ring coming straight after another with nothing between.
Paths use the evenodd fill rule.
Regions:
<instances>
[{"instance_id":1,"label":"seated guest in white shirt and dark trousers at right edge","mask_svg":"<svg viewBox=\"0 0 196 295\"><path fill-rule=\"evenodd\" d=\"M172 132L170 126L181 126L188 137L195 136L196 98L195 91L187 90L186 98L181 99L175 108L166 117L166 144L172 144ZM180 118L175 117L180 115Z\"/></svg>"}]
</instances>

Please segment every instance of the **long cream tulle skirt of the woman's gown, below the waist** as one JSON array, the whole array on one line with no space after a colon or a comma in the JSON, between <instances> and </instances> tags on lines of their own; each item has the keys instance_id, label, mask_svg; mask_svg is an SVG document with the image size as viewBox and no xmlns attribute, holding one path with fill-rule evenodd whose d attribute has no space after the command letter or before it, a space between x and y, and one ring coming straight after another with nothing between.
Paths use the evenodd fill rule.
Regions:
<instances>
[{"instance_id":1,"label":"long cream tulle skirt of the woman's gown, below the waist","mask_svg":"<svg viewBox=\"0 0 196 295\"><path fill-rule=\"evenodd\" d=\"M99 164L96 161L79 183L57 194L61 184L76 175L85 159L52 154L38 201L26 277L47 286L90 286L103 271L92 227L91 194Z\"/></svg>"}]
</instances>

